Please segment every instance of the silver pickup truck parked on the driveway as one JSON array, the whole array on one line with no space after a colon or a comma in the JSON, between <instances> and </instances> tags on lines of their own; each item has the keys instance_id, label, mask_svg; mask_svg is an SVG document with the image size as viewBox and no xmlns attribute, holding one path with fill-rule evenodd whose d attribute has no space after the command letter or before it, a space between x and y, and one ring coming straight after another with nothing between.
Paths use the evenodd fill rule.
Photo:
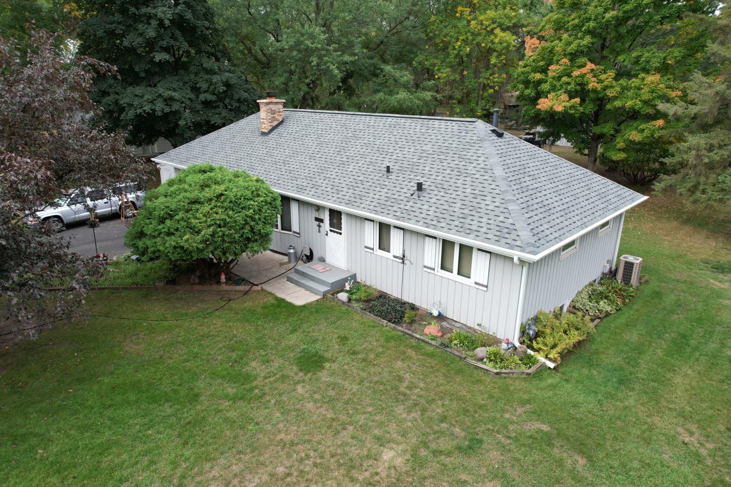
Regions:
<instances>
[{"instance_id":1,"label":"silver pickup truck parked on the driveway","mask_svg":"<svg viewBox=\"0 0 731 487\"><path fill-rule=\"evenodd\" d=\"M37 227L42 221L50 221L57 231L66 228L67 224L80 221L88 221L89 208L94 209L94 215L104 216L113 215L121 212L121 194L126 194L132 206L137 208L143 207L145 199L145 191L138 191L134 184L119 185L113 188L112 192L108 191L86 191L74 190L61 198L56 198L53 205L37 210L33 216L26 219L26 223L31 228ZM86 196L84 196L86 193ZM125 218L132 218L134 213L129 207L124 210Z\"/></svg>"}]
</instances>

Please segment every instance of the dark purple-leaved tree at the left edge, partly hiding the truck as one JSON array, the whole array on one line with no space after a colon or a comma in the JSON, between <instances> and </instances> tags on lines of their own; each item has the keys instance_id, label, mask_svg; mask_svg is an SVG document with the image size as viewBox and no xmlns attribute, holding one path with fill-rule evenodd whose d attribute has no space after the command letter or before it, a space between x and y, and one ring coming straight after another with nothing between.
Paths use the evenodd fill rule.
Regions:
<instances>
[{"instance_id":1,"label":"dark purple-leaved tree at the left edge, partly hiding the truck","mask_svg":"<svg viewBox=\"0 0 731 487\"><path fill-rule=\"evenodd\" d=\"M31 230L23 218L69 189L144 182L152 169L123 133L95 124L88 91L113 66L59 52L55 40L31 30L20 52L0 37L0 320L19 330L82 316L101 272L50 225Z\"/></svg>"}]
</instances>

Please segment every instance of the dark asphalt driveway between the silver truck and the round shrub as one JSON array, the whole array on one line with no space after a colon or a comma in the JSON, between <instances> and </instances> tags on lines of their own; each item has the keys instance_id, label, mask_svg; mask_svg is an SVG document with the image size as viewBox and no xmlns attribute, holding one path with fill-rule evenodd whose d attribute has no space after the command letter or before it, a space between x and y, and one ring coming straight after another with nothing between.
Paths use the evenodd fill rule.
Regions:
<instances>
[{"instance_id":1,"label":"dark asphalt driveway between the silver truck and the round shrub","mask_svg":"<svg viewBox=\"0 0 731 487\"><path fill-rule=\"evenodd\" d=\"M109 260L129 252L129 249L124 246L124 234L127 229L119 215L102 219L94 231L96 232L96 248L100 253L107 253ZM82 256L93 256L96 253L94 251L94 233L86 223L72 223L61 232L61 235L71 240L72 252L80 253Z\"/></svg>"}]
</instances>

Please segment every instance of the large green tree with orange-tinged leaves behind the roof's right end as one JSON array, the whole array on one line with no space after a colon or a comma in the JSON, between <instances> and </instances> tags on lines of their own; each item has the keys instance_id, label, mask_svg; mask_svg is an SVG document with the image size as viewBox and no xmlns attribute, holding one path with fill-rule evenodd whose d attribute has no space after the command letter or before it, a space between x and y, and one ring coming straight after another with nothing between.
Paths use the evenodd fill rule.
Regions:
<instances>
[{"instance_id":1,"label":"large green tree with orange-tinged leaves behind the roof's right end","mask_svg":"<svg viewBox=\"0 0 731 487\"><path fill-rule=\"evenodd\" d=\"M681 99L681 77L700 63L707 34L697 15L716 1L556 0L526 45L515 88L545 137L563 135L596 168L639 154L628 141L656 134L661 102ZM658 128L655 126L655 128Z\"/></svg>"}]
</instances>

